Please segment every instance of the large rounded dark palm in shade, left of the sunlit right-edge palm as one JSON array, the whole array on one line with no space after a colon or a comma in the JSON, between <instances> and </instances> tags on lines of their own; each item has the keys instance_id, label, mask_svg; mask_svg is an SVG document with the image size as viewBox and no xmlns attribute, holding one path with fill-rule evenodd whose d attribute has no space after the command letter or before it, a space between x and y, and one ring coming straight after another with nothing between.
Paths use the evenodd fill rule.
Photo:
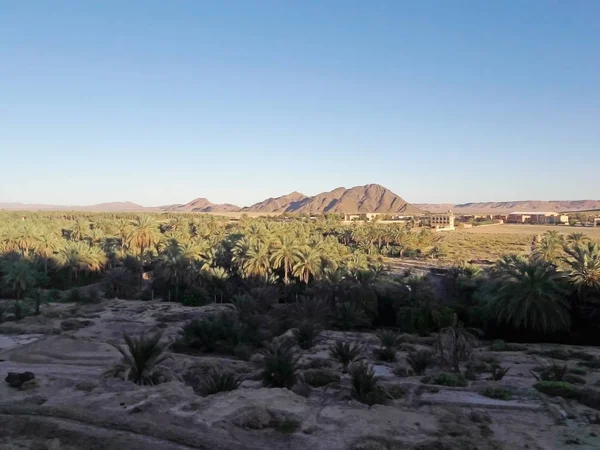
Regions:
<instances>
[{"instance_id":1,"label":"large rounded dark palm in shade, left of the sunlit right-edge palm","mask_svg":"<svg viewBox=\"0 0 600 450\"><path fill-rule=\"evenodd\" d=\"M547 262L515 264L500 277L493 297L498 321L542 333L568 329L569 305L559 281Z\"/></svg>"}]
</instances>

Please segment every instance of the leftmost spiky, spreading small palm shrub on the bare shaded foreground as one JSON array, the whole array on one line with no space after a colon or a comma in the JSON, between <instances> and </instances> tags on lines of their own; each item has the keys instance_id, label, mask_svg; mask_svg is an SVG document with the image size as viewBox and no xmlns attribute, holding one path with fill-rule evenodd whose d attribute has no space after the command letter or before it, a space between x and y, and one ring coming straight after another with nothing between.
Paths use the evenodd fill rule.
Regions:
<instances>
[{"instance_id":1,"label":"leftmost spiky, spreading small palm shrub on the bare shaded foreground","mask_svg":"<svg viewBox=\"0 0 600 450\"><path fill-rule=\"evenodd\" d=\"M138 338L123 334L125 347L115 345L122 359L114 374L123 371L126 379L136 384L154 384L154 371L167 358L164 355L165 345L160 344L161 338L160 332L149 337L142 333Z\"/></svg>"}]
</instances>

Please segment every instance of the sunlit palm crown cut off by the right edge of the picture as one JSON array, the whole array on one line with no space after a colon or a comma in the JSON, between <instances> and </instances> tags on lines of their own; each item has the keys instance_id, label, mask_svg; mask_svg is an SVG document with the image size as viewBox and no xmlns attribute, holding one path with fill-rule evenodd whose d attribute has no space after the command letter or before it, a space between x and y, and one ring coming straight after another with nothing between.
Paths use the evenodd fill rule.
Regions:
<instances>
[{"instance_id":1,"label":"sunlit palm crown cut off by the right edge of the picture","mask_svg":"<svg viewBox=\"0 0 600 450\"><path fill-rule=\"evenodd\" d=\"M580 233L578 233L580 234ZM600 248L587 241L585 244L565 248L569 258L567 279L577 289L577 296L584 301L592 293L600 293Z\"/></svg>"}]
</instances>

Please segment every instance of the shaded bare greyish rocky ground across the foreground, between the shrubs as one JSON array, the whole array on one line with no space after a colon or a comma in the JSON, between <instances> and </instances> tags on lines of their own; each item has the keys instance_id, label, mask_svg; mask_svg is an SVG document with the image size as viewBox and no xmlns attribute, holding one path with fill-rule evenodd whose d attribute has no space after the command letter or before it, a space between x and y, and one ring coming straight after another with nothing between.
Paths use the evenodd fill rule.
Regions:
<instances>
[{"instance_id":1,"label":"shaded bare greyish rocky ground across the foreground, between the shrubs","mask_svg":"<svg viewBox=\"0 0 600 450\"><path fill-rule=\"evenodd\" d=\"M394 398L372 407L352 398L348 375L329 356L340 338L375 349L378 341L369 333L325 331L303 351L306 379L315 371L331 376L323 387L265 388L256 376L257 358L219 355L171 354L165 363L171 381L155 386L105 376L120 360L113 344L122 342L123 332L163 330L165 339L174 340L186 321L227 308L121 300L51 304L40 316L1 324L2 378L32 372L35 379L19 388L0 383L0 449L600 448L600 425L591 423L596 411L533 389L532 371L552 364L544 352L559 346L492 351L482 343L473 355L477 380L452 388L410 376L407 351L430 348L432 339L407 338L397 362L369 361ZM587 386L599 383L600 369L580 366L581 358L571 355L600 358L600 349L560 349L569 355L560 364L585 369L579 373ZM488 379L490 361L509 368L501 381ZM212 368L245 381L231 392L197 395L197 384ZM439 371L432 367L428 374ZM512 399L482 395L489 387L506 388Z\"/></svg>"}]
</instances>

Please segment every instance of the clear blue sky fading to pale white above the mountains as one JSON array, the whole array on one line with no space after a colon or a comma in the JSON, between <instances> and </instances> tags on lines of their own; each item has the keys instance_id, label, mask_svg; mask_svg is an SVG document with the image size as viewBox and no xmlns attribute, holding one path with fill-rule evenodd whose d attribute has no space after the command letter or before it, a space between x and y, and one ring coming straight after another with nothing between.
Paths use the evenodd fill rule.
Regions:
<instances>
[{"instance_id":1,"label":"clear blue sky fading to pale white above the mountains","mask_svg":"<svg viewBox=\"0 0 600 450\"><path fill-rule=\"evenodd\" d=\"M0 0L0 201L600 198L600 1Z\"/></svg>"}]
</instances>

